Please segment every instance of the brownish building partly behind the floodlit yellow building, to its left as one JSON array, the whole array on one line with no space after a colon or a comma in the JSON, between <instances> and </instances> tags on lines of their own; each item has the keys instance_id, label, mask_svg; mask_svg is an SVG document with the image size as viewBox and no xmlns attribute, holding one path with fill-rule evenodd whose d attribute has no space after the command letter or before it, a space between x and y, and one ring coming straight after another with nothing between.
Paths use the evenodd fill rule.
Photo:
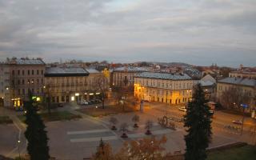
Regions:
<instances>
[{"instance_id":1,"label":"brownish building partly behind the floodlit yellow building, to its left","mask_svg":"<svg viewBox=\"0 0 256 160\"><path fill-rule=\"evenodd\" d=\"M134 75L149 71L144 67L123 66L113 70L113 86L134 86Z\"/></svg>"}]
</instances>

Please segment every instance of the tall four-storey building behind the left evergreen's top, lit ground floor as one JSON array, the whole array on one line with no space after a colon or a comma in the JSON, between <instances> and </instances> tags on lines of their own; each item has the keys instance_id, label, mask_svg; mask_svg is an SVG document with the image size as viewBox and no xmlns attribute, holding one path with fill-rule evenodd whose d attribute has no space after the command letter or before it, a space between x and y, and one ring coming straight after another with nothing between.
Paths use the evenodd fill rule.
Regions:
<instances>
[{"instance_id":1,"label":"tall four-storey building behind the left evergreen's top, lit ground floor","mask_svg":"<svg viewBox=\"0 0 256 160\"><path fill-rule=\"evenodd\" d=\"M37 101L42 100L44 93L44 74L46 64L41 58L7 58L10 67L10 106L18 109L31 92Z\"/></svg>"}]
</instances>

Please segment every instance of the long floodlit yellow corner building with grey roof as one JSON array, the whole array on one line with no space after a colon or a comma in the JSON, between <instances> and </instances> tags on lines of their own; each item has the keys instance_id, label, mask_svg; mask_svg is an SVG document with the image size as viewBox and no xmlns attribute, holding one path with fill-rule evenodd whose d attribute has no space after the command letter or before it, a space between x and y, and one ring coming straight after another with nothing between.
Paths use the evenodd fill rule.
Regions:
<instances>
[{"instance_id":1,"label":"long floodlit yellow corner building with grey roof","mask_svg":"<svg viewBox=\"0 0 256 160\"><path fill-rule=\"evenodd\" d=\"M134 76L134 96L150 102L186 103L193 80L187 74L143 72Z\"/></svg>"}]
</instances>

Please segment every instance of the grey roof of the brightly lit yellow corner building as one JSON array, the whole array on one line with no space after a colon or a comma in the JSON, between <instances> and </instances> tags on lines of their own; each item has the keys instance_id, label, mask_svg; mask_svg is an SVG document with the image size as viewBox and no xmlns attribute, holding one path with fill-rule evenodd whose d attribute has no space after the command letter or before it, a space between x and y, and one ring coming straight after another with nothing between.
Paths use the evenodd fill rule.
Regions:
<instances>
[{"instance_id":1,"label":"grey roof of the brightly lit yellow corner building","mask_svg":"<svg viewBox=\"0 0 256 160\"><path fill-rule=\"evenodd\" d=\"M137 78L155 78L155 79L170 79L170 80L191 80L187 74L169 74L158 72L142 72L134 77Z\"/></svg>"}]
</instances>

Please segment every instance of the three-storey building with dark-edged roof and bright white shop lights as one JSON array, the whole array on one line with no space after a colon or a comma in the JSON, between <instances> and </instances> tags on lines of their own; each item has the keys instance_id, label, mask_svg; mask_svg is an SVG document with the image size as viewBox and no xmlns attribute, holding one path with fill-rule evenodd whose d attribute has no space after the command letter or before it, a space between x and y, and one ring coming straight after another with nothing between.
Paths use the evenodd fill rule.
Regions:
<instances>
[{"instance_id":1,"label":"three-storey building with dark-edged roof and bright white shop lights","mask_svg":"<svg viewBox=\"0 0 256 160\"><path fill-rule=\"evenodd\" d=\"M86 99L89 73L82 67L47 67L45 94L50 102L79 102Z\"/></svg>"}]
</instances>

